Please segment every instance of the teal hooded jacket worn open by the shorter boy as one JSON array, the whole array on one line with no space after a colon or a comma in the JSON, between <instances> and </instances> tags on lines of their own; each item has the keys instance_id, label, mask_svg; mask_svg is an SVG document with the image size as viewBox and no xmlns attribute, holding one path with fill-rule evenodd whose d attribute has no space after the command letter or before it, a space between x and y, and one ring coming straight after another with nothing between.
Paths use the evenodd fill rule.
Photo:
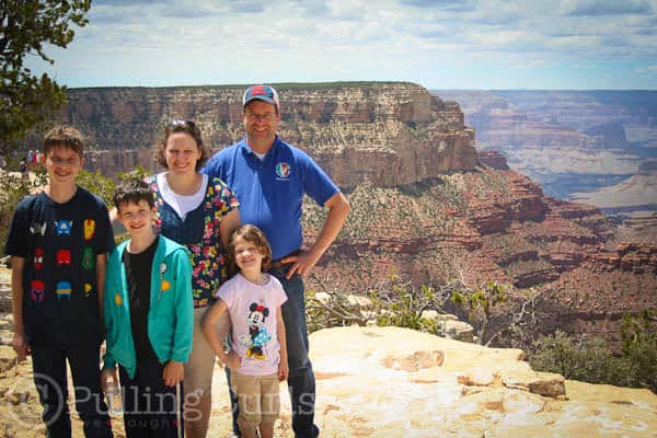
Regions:
<instances>
[{"instance_id":1,"label":"teal hooded jacket worn open by the shorter boy","mask_svg":"<svg viewBox=\"0 0 657 438\"><path fill-rule=\"evenodd\" d=\"M186 362L189 360L194 332L189 253L184 246L163 235L158 235L157 239L158 247L151 268L148 337L160 362ZM113 369L118 362L132 378L138 364L130 325L128 283L123 263L127 244L128 242L119 244L107 261L104 297L107 347L103 369Z\"/></svg>"}]
</instances>

